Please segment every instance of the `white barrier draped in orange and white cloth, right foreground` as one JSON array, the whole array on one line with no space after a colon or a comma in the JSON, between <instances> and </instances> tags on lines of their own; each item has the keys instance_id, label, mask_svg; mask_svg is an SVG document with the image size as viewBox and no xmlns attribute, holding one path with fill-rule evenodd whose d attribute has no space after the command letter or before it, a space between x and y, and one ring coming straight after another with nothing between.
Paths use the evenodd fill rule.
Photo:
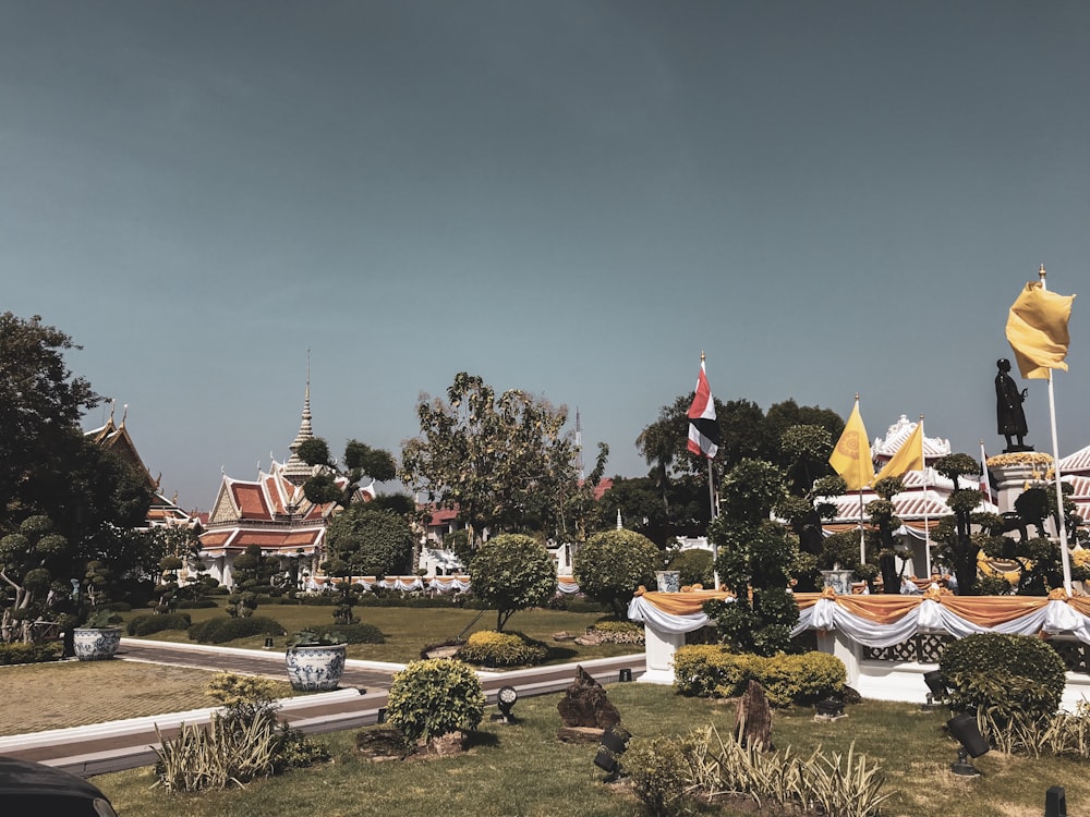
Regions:
<instances>
[{"instance_id":1,"label":"white barrier draped in orange and white cloth, right foreground","mask_svg":"<svg viewBox=\"0 0 1090 817\"><path fill-rule=\"evenodd\" d=\"M674 651L685 634L711 623L703 605L730 599L726 593L639 593L628 609L632 621L644 623L647 671L640 679L674 683ZM792 636L815 631L818 647L844 661L848 683L864 697L919 700L925 693L922 675L934 663L868 660L864 648L901 644L919 634L962 638L973 633L1007 633L1068 638L1090 644L1090 597L1068 597L1063 589L1040 596L955 596L929 589L916 595L837 595L799 593L799 622ZM1064 706L1074 708L1090 697L1090 676L1068 673Z\"/></svg>"}]
</instances>

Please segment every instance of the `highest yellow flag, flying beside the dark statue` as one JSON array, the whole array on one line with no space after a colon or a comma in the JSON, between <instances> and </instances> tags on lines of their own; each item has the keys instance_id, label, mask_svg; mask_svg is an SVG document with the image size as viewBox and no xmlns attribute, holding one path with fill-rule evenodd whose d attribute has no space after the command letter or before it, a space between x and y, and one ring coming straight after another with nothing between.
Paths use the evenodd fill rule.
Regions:
<instances>
[{"instance_id":1,"label":"highest yellow flag, flying beside the dark statue","mask_svg":"<svg viewBox=\"0 0 1090 817\"><path fill-rule=\"evenodd\" d=\"M1018 295L1007 316L1007 341L1015 352L1022 377L1049 379L1050 369L1067 370L1064 358L1067 344L1067 321L1071 317L1075 295L1057 295L1030 281Z\"/></svg>"}]
</instances>

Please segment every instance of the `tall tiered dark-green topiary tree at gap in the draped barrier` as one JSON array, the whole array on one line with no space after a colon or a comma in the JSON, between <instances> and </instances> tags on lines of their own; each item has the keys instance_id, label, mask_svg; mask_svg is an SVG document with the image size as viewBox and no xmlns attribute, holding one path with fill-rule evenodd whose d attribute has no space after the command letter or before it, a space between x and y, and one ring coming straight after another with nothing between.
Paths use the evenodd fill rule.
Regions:
<instances>
[{"instance_id":1,"label":"tall tiered dark-green topiary tree at gap in the draped barrier","mask_svg":"<svg viewBox=\"0 0 1090 817\"><path fill-rule=\"evenodd\" d=\"M720 486L722 511L707 533L719 548L719 578L737 598L708 601L705 610L720 641L738 651L771 656L791 649L799 611L788 585L798 546L787 526L770 519L785 495L783 472L759 460L742 460Z\"/></svg>"}]
</instances>

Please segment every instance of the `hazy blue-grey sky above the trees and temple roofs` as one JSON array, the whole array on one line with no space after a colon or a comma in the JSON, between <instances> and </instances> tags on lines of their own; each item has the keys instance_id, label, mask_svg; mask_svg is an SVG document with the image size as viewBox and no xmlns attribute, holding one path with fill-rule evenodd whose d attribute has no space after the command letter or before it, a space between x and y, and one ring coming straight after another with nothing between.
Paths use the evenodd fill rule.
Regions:
<instances>
[{"instance_id":1,"label":"hazy blue-grey sky above the trees and temple roofs","mask_svg":"<svg viewBox=\"0 0 1090 817\"><path fill-rule=\"evenodd\" d=\"M704 352L720 400L992 455L1012 303L1085 290L1088 53L1081 0L0 0L0 310L185 509L287 459L308 359L335 451L469 371L642 476Z\"/></svg>"}]
</instances>

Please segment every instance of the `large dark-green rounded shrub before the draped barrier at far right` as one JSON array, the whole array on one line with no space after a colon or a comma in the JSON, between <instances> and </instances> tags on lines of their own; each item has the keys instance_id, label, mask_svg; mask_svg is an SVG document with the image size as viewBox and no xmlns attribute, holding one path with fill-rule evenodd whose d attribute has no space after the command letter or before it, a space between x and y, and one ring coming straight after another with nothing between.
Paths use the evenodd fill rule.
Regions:
<instances>
[{"instance_id":1,"label":"large dark-green rounded shrub before the draped barrier at far right","mask_svg":"<svg viewBox=\"0 0 1090 817\"><path fill-rule=\"evenodd\" d=\"M1028 635L979 633L943 650L938 670L950 709L983 707L1000 719L1025 715L1050 718L1064 694L1065 667L1049 644Z\"/></svg>"}]
</instances>

